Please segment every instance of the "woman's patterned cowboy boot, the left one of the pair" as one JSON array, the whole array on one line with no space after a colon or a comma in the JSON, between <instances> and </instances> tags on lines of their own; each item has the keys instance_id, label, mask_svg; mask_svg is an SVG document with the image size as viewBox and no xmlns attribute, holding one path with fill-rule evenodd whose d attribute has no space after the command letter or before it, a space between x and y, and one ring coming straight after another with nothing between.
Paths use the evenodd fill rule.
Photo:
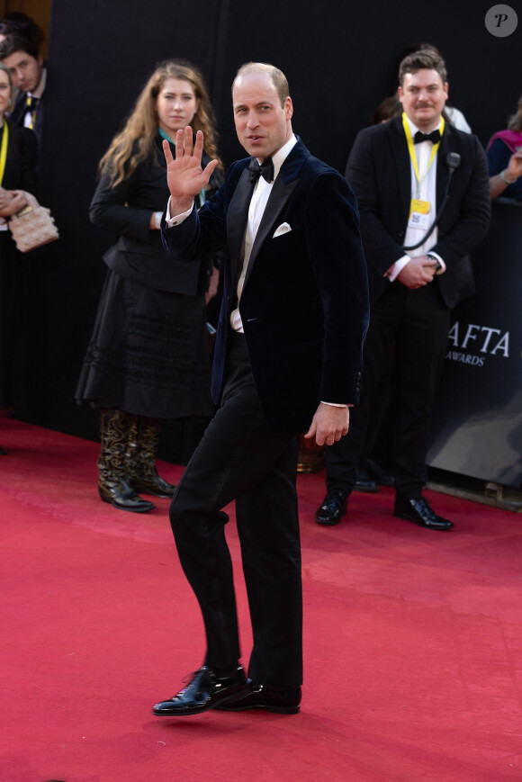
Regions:
<instances>
[{"instance_id":1,"label":"woman's patterned cowboy boot, the left one of the pair","mask_svg":"<svg viewBox=\"0 0 522 782\"><path fill-rule=\"evenodd\" d=\"M155 506L142 499L129 481L129 438L135 416L123 410L100 409L100 439L102 449L98 457L100 481L98 491L103 502L114 508L146 513Z\"/></svg>"}]
</instances>

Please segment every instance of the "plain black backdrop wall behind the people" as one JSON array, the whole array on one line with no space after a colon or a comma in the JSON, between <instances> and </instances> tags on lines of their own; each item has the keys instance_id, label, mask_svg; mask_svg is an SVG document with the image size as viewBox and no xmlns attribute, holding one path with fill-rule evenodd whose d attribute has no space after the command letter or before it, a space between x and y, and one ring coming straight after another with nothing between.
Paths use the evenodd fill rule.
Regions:
<instances>
[{"instance_id":1,"label":"plain black backdrop wall behind the people","mask_svg":"<svg viewBox=\"0 0 522 782\"><path fill-rule=\"evenodd\" d=\"M101 256L113 237L90 225L87 210L98 160L157 61L184 57L201 67L226 163L243 155L230 110L232 78L247 60L274 62L289 78L294 130L344 172L357 131L395 91L401 55L415 42L441 49L450 103L483 143L505 127L522 93L521 36L520 28L508 38L486 30L492 4L439 0L430 11L409 0L54 0L40 199L61 236L31 256L32 402L18 415L97 436L94 411L73 398L105 274ZM192 426L169 425L163 454L184 462L197 435Z\"/></svg>"}]
</instances>

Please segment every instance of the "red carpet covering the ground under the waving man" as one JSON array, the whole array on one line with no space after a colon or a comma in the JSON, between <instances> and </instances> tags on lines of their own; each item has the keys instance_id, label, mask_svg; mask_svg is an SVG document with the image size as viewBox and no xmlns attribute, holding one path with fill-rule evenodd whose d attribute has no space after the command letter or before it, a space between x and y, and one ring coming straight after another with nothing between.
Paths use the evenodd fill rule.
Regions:
<instances>
[{"instance_id":1,"label":"red carpet covering the ground under the waving man","mask_svg":"<svg viewBox=\"0 0 522 782\"><path fill-rule=\"evenodd\" d=\"M204 647L168 500L102 503L98 447L76 437L3 418L0 444L0 782L522 779L519 515L431 493L455 521L435 533L393 518L381 490L325 529L323 476L299 476L302 713L175 721L150 707ZM229 542L238 564L233 521Z\"/></svg>"}]
</instances>

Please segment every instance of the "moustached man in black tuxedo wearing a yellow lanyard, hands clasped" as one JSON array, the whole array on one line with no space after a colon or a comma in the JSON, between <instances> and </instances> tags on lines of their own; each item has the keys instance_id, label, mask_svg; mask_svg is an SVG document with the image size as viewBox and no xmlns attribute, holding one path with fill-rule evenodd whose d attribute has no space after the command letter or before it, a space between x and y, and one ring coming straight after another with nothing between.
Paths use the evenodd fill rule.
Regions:
<instances>
[{"instance_id":1,"label":"moustached man in black tuxedo wearing a yellow lanyard, hands clasped","mask_svg":"<svg viewBox=\"0 0 522 782\"><path fill-rule=\"evenodd\" d=\"M442 58L434 52L404 58L399 83L402 116L362 130L347 164L361 212L372 316L361 408L350 437L327 448L328 493L316 520L335 525L347 511L378 385L393 363L393 515L447 530L452 522L422 496L429 425L450 310L473 293L468 253L489 226L488 172L479 140L442 119L448 94Z\"/></svg>"}]
</instances>

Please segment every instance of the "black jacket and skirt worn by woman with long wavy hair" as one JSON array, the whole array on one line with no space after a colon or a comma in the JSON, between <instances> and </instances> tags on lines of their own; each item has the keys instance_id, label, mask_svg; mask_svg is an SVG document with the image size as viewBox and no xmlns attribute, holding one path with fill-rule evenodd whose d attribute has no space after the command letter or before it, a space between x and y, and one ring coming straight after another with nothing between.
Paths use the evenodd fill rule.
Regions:
<instances>
[{"instance_id":1,"label":"black jacket and skirt worn by woman with long wavy hair","mask_svg":"<svg viewBox=\"0 0 522 782\"><path fill-rule=\"evenodd\" d=\"M95 225L118 232L76 401L151 418L208 418L209 338L204 292L215 259L173 262L152 211L168 201L166 164L157 148L121 184L103 176L91 203ZM212 191L220 175L211 179Z\"/></svg>"}]
</instances>

